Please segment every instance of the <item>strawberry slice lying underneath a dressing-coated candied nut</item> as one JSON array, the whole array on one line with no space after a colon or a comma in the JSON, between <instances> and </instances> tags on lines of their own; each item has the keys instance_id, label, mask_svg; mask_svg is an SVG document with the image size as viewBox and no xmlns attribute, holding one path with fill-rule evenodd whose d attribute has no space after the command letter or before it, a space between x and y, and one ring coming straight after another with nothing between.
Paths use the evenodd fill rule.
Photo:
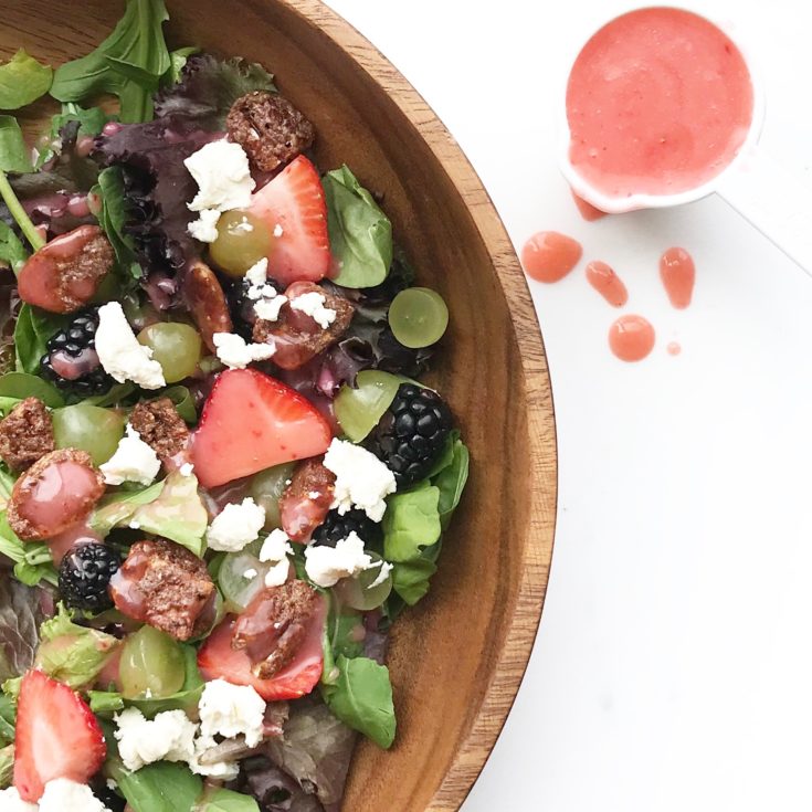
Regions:
<instances>
[{"instance_id":1,"label":"strawberry slice lying underneath a dressing-coated candied nut","mask_svg":"<svg viewBox=\"0 0 812 812\"><path fill-rule=\"evenodd\" d=\"M324 652L321 637L327 616L327 604L319 598L318 610L310 621L302 647L293 662L271 679L260 679L251 671L251 661L244 648L231 645L234 618L226 618L209 635L198 652L198 667L203 679L225 679L232 685L251 685L256 693L268 702L298 699L309 694L321 678Z\"/></svg>"}]
</instances>

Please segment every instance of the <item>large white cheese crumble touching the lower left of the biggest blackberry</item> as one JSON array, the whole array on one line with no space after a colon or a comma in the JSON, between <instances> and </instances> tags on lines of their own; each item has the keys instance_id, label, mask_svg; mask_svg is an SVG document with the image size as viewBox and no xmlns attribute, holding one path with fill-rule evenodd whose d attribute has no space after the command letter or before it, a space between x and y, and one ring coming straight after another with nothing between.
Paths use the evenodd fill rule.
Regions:
<instances>
[{"instance_id":1,"label":"large white cheese crumble touching the lower left of the biggest blackberry","mask_svg":"<svg viewBox=\"0 0 812 812\"><path fill-rule=\"evenodd\" d=\"M344 515L356 507L372 521L387 509L386 497L393 494L394 474L371 452L344 440L333 440L324 466L336 475L333 507Z\"/></svg>"}]
</instances>

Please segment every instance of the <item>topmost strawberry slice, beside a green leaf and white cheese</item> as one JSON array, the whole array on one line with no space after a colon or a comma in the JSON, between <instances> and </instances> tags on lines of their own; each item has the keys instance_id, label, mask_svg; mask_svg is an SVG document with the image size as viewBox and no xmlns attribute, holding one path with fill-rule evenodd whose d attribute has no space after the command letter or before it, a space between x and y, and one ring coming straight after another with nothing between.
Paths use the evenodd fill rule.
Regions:
<instances>
[{"instance_id":1,"label":"topmost strawberry slice, beside a green leaf and white cheese","mask_svg":"<svg viewBox=\"0 0 812 812\"><path fill-rule=\"evenodd\" d=\"M289 285L318 282L330 267L327 203L316 167L299 156L256 192L250 211L280 234L268 256L267 273ZM277 228L278 226L278 228Z\"/></svg>"}]
</instances>

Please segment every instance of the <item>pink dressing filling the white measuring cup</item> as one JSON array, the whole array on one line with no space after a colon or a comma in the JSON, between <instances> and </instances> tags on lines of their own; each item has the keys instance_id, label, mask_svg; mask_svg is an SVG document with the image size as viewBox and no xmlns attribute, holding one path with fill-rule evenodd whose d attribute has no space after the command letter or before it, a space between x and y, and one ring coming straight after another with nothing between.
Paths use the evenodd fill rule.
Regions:
<instances>
[{"instance_id":1,"label":"pink dressing filling the white measuring cup","mask_svg":"<svg viewBox=\"0 0 812 812\"><path fill-rule=\"evenodd\" d=\"M611 198L696 189L736 157L752 120L741 53L679 9L612 20L578 55L567 86L570 161Z\"/></svg>"}]
</instances>

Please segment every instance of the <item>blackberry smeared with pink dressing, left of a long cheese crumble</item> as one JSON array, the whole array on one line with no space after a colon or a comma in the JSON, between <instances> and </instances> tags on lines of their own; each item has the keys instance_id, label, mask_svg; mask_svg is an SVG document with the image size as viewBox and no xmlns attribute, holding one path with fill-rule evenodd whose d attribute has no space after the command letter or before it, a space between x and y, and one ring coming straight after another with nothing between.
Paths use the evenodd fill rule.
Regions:
<instances>
[{"instance_id":1,"label":"blackberry smeared with pink dressing, left of a long cheese crumble","mask_svg":"<svg viewBox=\"0 0 812 812\"><path fill-rule=\"evenodd\" d=\"M74 316L46 345L40 361L42 377L59 389L82 398L102 394L113 386L96 354L98 307L89 307Z\"/></svg>"}]
</instances>

